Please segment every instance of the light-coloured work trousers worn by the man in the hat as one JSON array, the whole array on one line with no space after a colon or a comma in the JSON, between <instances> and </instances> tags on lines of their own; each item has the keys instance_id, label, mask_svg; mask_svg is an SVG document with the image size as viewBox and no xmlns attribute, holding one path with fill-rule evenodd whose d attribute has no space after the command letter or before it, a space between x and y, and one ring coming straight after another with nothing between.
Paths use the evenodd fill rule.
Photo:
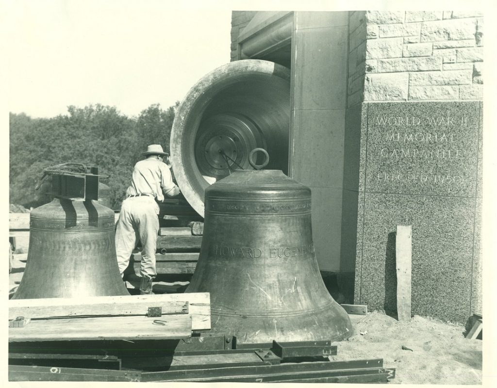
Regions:
<instances>
[{"instance_id":1,"label":"light-coloured work trousers worn by the man in the hat","mask_svg":"<svg viewBox=\"0 0 497 388\"><path fill-rule=\"evenodd\" d=\"M142 243L140 275L155 277L157 235L159 234L159 205L152 196L125 199L116 225L116 256L121 277L138 241Z\"/></svg>"}]
</instances>

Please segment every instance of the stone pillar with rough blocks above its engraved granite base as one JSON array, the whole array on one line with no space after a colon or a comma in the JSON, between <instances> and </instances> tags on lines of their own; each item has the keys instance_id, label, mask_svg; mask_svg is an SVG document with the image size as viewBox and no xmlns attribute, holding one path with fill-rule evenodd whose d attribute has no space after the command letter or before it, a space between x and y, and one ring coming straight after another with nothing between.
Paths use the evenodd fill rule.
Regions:
<instances>
[{"instance_id":1,"label":"stone pillar with rough blocks above its engraved granite base","mask_svg":"<svg viewBox=\"0 0 497 388\"><path fill-rule=\"evenodd\" d=\"M412 225L413 314L464 323L482 304L483 14L349 20L340 270L355 304L395 312L395 230Z\"/></svg>"}]
</instances>

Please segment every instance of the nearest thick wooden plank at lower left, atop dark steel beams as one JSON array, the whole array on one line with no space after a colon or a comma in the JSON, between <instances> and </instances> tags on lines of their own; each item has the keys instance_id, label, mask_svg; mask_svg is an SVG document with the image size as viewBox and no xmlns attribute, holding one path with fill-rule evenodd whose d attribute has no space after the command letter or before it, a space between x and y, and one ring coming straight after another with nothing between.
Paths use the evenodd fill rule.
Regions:
<instances>
[{"instance_id":1,"label":"nearest thick wooden plank at lower left, atop dark steel beams","mask_svg":"<svg viewBox=\"0 0 497 388\"><path fill-rule=\"evenodd\" d=\"M161 320L164 325L154 324ZM178 314L162 318L110 317L34 320L25 327L9 327L9 341L76 341L110 339L179 339L191 336L192 320Z\"/></svg>"}]
</instances>

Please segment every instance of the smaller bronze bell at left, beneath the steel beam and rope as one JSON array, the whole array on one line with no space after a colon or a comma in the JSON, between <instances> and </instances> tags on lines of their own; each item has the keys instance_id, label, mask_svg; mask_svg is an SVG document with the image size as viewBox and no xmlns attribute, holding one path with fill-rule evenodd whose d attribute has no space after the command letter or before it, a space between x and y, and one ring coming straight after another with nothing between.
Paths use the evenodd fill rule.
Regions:
<instances>
[{"instance_id":1,"label":"smaller bronze bell at left, beneath the steel beam and rope","mask_svg":"<svg viewBox=\"0 0 497 388\"><path fill-rule=\"evenodd\" d=\"M31 211L29 230L26 268L12 299L129 295L111 209L96 200L55 198Z\"/></svg>"}]
</instances>

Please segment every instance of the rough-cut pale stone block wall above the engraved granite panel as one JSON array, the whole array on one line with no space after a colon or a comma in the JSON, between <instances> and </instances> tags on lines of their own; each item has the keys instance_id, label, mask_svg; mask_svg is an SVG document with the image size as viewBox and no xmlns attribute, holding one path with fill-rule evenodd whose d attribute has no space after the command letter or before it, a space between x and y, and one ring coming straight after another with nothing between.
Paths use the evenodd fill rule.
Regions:
<instances>
[{"instance_id":1,"label":"rough-cut pale stone block wall above the engraved granite panel","mask_svg":"<svg viewBox=\"0 0 497 388\"><path fill-rule=\"evenodd\" d=\"M355 11L349 25L348 106L359 102L364 44L365 102L483 99L481 12Z\"/></svg>"}]
</instances>

